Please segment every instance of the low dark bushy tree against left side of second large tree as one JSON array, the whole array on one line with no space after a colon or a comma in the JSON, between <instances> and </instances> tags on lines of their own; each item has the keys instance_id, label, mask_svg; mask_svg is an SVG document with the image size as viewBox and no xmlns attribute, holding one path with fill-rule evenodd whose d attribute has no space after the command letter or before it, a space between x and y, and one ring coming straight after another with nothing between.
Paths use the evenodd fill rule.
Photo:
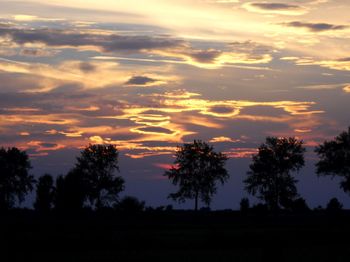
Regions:
<instances>
[{"instance_id":1,"label":"low dark bushy tree against left side of second large tree","mask_svg":"<svg viewBox=\"0 0 350 262\"><path fill-rule=\"evenodd\" d=\"M55 208L63 212L76 212L83 208L87 189L82 173L76 169L56 179Z\"/></svg>"}]
</instances>

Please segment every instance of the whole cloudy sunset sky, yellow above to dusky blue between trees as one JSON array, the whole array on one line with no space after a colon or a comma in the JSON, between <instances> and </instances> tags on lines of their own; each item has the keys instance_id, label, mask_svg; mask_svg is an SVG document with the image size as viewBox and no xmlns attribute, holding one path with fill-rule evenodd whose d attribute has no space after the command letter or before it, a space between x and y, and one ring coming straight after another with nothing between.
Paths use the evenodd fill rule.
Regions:
<instances>
[{"instance_id":1,"label":"whole cloudy sunset sky, yellow above to dusky blue between trees","mask_svg":"<svg viewBox=\"0 0 350 262\"><path fill-rule=\"evenodd\" d=\"M177 146L201 139L230 157L212 208L238 208L259 145L294 136L307 148L300 196L350 208L313 153L350 124L348 0L0 6L0 146L26 150L36 177L65 174L89 143L114 144L123 195L191 208L167 199L176 188L163 174Z\"/></svg>"}]
</instances>

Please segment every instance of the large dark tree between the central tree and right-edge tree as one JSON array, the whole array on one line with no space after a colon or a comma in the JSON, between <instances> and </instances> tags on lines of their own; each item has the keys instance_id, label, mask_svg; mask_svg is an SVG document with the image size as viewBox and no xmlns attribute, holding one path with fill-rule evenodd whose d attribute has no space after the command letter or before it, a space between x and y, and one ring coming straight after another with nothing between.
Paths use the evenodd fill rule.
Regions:
<instances>
[{"instance_id":1,"label":"large dark tree between the central tree and right-edge tree","mask_svg":"<svg viewBox=\"0 0 350 262\"><path fill-rule=\"evenodd\" d=\"M245 189L272 210L288 206L298 196L291 172L304 166L304 152L303 141L296 138L267 137L253 156Z\"/></svg>"}]
</instances>

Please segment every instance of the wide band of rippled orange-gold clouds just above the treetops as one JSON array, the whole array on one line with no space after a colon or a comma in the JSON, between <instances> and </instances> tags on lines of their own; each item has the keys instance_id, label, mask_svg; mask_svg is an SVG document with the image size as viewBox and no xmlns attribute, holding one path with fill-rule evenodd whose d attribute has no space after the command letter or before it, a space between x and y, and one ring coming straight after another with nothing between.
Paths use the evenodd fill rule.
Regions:
<instances>
[{"instance_id":1,"label":"wide band of rippled orange-gold clouds just above the treetops","mask_svg":"<svg viewBox=\"0 0 350 262\"><path fill-rule=\"evenodd\" d=\"M22 93L15 100L1 96L1 103L6 103L2 108L5 113L0 114L0 129L6 134L16 130L13 133L21 141L12 139L12 144L30 148L37 157L53 148L80 148L90 141L112 143L128 157L144 158L171 155L178 143L193 139L199 132L209 135L209 140L213 132L221 133L237 121L280 123L303 130L321 113L313 110L313 102L215 100L186 90L151 94L130 93L126 88L116 93L90 90L89 95L80 97L78 93L69 89L62 93ZM273 115L261 112L261 106L269 107ZM245 110L249 108L252 110ZM30 136L19 136L19 132ZM239 142L220 135L210 141L223 147ZM226 151L231 157L252 153L248 149Z\"/></svg>"}]
</instances>

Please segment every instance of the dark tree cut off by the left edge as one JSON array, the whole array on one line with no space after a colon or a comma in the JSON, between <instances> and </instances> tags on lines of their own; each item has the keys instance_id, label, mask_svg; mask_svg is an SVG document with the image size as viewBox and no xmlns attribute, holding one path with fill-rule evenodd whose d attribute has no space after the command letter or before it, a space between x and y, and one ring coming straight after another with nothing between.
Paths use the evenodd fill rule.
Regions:
<instances>
[{"instance_id":1,"label":"dark tree cut off by the left edge","mask_svg":"<svg viewBox=\"0 0 350 262\"><path fill-rule=\"evenodd\" d=\"M29 175L31 168L28 155L18 148L0 148L0 209L13 207L16 200L21 203L33 190L35 182Z\"/></svg>"}]
</instances>

